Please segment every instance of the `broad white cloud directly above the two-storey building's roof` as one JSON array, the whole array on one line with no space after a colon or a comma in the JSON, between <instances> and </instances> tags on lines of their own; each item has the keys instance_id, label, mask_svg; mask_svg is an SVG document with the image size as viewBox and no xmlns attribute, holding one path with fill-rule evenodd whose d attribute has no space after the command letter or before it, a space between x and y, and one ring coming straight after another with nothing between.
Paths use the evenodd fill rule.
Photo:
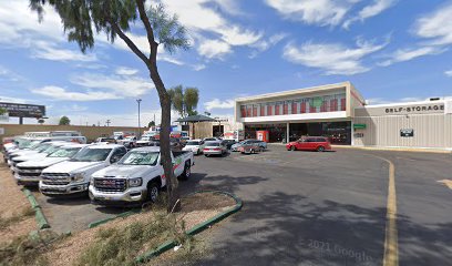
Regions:
<instances>
[{"instance_id":1,"label":"broad white cloud directly above the two-storey building's roof","mask_svg":"<svg viewBox=\"0 0 452 266\"><path fill-rule=\"evenodd\" d=\"M318 68L326 74L352 75L370 70L364 66L362 59L383 49L388 42L374 44L358 40L356 48L348 48L339 43L307 42L300 47L289 43L284 49L282 57L292 63L309 68Z\"/></svg>"}]
</instances>

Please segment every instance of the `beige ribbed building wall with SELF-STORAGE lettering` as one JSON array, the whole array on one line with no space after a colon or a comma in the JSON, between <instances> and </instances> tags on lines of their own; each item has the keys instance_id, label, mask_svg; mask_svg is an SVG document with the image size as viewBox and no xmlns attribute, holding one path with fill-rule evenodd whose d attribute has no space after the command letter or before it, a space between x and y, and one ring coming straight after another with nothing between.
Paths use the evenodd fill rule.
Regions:
<instances>
[{"instance_id":1,"label":"beige ribbed building wall with SELF-STORAGE lettering","mask_svg":"<svg viewBox=\"0 0 452 266\"><path fill-rule=\"evenodd\" d=\"M443 102L357 109L353 123L366 124L353 132L357 146L452 149L452 114ZM413 136L401 136L404 129L412 129Z\"/></svg>"}]
</instances>

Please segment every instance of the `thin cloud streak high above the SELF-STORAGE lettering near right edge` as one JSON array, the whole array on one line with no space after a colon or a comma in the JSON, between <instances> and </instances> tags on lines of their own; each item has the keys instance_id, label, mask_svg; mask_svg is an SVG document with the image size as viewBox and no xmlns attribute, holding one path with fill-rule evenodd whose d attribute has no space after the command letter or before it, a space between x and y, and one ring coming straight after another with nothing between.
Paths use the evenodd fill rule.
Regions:
<instances>
[{"instance_id":1,"label":"thin cloud streak high above the SELF-STORAGE lettering near right edge","mask_svg":"<svg viewBox=\"0 0 452 266\"><path fill-rule=\"evenodd\" d=\"M446 51L446 49L439 48L439 47L420 47L414 49L399 49L389 55L390 59L378 63L381 66L388 66L393 63L410 61L420 57L429 55L429 54L440 54Z\"/></svg>"}]
</instances>

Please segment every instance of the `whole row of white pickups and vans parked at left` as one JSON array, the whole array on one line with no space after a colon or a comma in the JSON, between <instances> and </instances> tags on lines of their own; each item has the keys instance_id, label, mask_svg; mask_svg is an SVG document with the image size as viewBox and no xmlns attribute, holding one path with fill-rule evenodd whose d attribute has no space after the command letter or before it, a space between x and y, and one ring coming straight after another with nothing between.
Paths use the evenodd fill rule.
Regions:
<instances>
[{"instance_id":1,"label":"whole row of white pickups and vans parked at left","mask_svg":"<svg viewBox=\"0 0 452 266\"><path fill-rule=\"evenodd\" d=\"M122 144L76 144L47 139L22 140L3 150L19 184L38 185L47 196L88 193L93 203L155 201L166 185L158 146L127 151ZM174 173L191 176L193 153L172 152Z\"/></svg>"}]
</instances>

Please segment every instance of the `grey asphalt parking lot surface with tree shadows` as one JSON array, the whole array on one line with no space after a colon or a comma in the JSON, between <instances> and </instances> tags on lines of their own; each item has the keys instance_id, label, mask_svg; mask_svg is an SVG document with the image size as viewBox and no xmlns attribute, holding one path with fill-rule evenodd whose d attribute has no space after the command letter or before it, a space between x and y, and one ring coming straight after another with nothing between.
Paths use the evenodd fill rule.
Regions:
<instances>
[{"instance_id":1,"label":"grey asphalt parking lot surface with tree shadows","mask_svg":"<svg viewBox=\"0 0 452 266\"><path fill-rule=\"evenodd\" d=\"M244 200L242 212L212 231L213 252L196 264L381 265L386 160L396 173L400 265L448 265L452 191L439 181L452 180L450 154L289 152L281 145L253 155L195 158L191 180L179 183L182 194L223 190ZM81 231L129 209L34 194L56 232Z\"/></svg>"}]
</instances>

